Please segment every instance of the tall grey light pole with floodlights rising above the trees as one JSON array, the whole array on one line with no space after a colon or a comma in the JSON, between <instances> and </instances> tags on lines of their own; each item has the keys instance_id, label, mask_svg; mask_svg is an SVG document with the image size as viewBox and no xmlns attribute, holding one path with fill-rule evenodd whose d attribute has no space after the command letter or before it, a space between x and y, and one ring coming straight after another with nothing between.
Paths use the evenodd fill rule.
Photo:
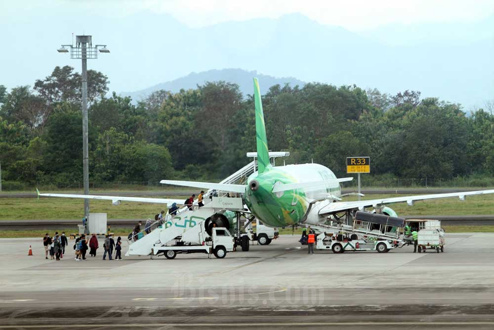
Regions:
<instances>
[{"instance_id":1,"label":"tall grey light pole with floodlights rising above the trees","mask_svg":"<svg viewBox=\"0 0 494 330\"><path fill-rule=\"evenodd\" d=\"M92 36L76 36L76 45L62 45L57 51L68 53L70 58L82 59L82 172L84 177L84 195L89 194L89 151L87 146L87 59L98 58L98 50L109 53L106 45L92 47ZM99 48L98 47L102 47ZM89 199L84 199L84 217L89 219Z\"/></svg>"}]
</instances>

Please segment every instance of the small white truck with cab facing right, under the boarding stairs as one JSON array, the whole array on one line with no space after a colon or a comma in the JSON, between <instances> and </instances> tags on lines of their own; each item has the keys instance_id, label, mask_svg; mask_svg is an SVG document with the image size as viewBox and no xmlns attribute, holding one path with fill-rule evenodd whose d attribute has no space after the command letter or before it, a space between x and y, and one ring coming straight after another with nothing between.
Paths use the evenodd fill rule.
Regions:
<instances>
[{"instance_id":1,"label":"small white truck with cab facing right, under the boarding stairs","mask_svg":"<svg viewBox=\"0 0 494 330\"><path fill-rule=\"evenodd\" d=\"M153 255L164 254L167 259L173 259L177 254L182 253L207 253L214 254L216 258L224 258L227 252L232 252L234 238L224 227L212 228L212 236L202 232L204 237L202 243L187 242L181 238L176 238L166 245L155 244L152 249Z\"/></svg>"}]
</instances>

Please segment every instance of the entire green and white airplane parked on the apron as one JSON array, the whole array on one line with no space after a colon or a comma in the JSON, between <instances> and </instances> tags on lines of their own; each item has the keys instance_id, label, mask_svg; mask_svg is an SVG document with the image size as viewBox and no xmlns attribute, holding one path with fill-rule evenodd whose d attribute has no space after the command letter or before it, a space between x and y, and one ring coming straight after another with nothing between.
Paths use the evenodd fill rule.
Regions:
<instances>
[{"instance_id":1,"label":"entire green and white airplane parked on the apron","mask_svg":"<svg viewBox=\"0 0 494 330\"><path fill-rule=\"evenodd\" d=\"M250 212L265 225L271 227L305 226L306 224L317 225L323 223L324 219L329 215L351 214L356 210L364 210L371 207L377 210L377 212L396 216L396 213L391 208L385 207L386 204L407 202L409 205L413 205L413 202L416 200L447 197L459 197L460 200L464 200L467 195L494 193L494 189L492 189L343 202L341 201L340 183L351 181L353 178L338 179L329 168L320 164L271 165L261 94L256 78L254 78L254 102L258 170L249 176L246 185L175 180L162 180L161 183L240 193L243 195L244 202ZM177 204L183 204L182 200L167 198L51 193L40 195L109 199L114 204L119 204L120 201L167 204L175 202Z\"/></svg>"}]
</instances>

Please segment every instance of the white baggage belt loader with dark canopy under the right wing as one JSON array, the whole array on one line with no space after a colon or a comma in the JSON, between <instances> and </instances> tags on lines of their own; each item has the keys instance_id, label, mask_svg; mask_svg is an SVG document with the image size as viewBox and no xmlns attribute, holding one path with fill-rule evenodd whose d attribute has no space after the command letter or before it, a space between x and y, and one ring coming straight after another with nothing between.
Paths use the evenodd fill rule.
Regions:
<instances>
[{"instance_id":1,"label":"white baggage belt loader with dark canopy under the right wing","mask_svg":"<svg viewBox=\"0 0 494 330\"><path fill-rule=\"evenodd\" d=\"M334 253L344 251L377 250L388 252L395 247L402 247L406 240L402 228L405 219L358 211L352 225L345 225L336 221L329 224L311 225L319 234L317 249L331 249Z\"/></svg>"}]
</instances>

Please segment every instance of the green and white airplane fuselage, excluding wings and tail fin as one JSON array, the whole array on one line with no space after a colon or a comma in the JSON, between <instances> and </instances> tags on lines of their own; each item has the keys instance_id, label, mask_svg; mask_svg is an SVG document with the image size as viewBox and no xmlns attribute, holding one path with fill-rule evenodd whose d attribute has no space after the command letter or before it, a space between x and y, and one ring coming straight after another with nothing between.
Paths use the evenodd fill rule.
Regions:
<instances>
[{"instance_id":1,"label":"green and white airplane fuselage, excluding wings and tail fin","mask_svg":"<svg viewBox=\"0 0 494 330\"><path fill-rule=\"evenodd\" d=\"M339 183L335 182L317 189L292 189L272 192L279 184L317 182L336 179L329 168L320 164L300 164L270 167L269 170L254 172L247 179L245 202L249 210L264 224L286 227L299 223L309 203L329 194L340 196Z\"/></svg>"}]
</instances>

